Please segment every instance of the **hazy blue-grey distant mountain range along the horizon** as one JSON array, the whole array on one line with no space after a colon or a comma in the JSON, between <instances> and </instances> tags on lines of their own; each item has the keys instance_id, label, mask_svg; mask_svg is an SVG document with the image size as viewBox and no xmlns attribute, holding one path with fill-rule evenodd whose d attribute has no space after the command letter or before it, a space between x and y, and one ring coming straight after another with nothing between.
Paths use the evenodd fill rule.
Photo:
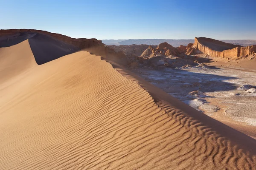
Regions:
<instances>
[{"instance_id":1,"label":"hazy blue-grey distant mountain range along the horizon","mask_svg":"<svg viewBox=\"0 0 256 170\"><path fill-rule=\"evenodd\" d=\"M248 46L248 45L255 45L256 40L221 40L223 42L241 45L241 46ZM178 47L180 45L188 45L189 43L194 43L195 40L173 40L173 39L129 39L129 40L102 40L102 42L106 45L159 45L162 42L167 42L168 44Z\"/></svg>"}]
</instances>

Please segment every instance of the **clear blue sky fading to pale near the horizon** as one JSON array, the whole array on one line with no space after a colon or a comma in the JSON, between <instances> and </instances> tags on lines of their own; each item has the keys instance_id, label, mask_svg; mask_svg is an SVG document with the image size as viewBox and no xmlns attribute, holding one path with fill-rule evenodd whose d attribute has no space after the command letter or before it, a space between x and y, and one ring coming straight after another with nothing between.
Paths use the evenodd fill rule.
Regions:
<instances>
[{"instance_id":1,"label":"clear blue sky fading to pale near the horizon","mask_svg":"<svg viewBox=\"0 0 256 170\"><path fill-rule=\"evenodd\" d=\"M0 0L0 29L75 38L256 40L256 0Z\"/></svg>"}]
</instances>

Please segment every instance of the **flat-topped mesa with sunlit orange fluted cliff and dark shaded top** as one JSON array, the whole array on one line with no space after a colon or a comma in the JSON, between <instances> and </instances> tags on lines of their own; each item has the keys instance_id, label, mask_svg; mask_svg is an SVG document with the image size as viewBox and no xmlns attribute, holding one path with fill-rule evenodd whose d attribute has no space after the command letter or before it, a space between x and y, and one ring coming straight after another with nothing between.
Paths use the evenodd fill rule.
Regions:
<instances>
[{"instance_id":1,"label":"flat-topped mesa with sunlit orange fluted cliff and dark shaded top","mask_svg":"<svg viewBox=\"0 0 256 170\"><path fill-rule=\"evenodd\" d=\"M196 51L201 51L212 57L241 57L251 55L256 52L256 45L242 47L211 38L195 37L195 43L187 48L186 54L192 55Z\"/></svg>"}]
</instances>

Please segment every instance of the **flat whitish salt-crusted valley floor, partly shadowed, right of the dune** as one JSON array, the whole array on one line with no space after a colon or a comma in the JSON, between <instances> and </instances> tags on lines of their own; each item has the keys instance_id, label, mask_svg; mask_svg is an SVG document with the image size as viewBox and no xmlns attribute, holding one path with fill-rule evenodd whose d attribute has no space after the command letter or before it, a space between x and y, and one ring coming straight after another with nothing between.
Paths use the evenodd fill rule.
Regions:
<instances>
[{"instance_id":1,"label":"flat whitish salt-crusted valley floor, partly shadowed, right of the dune","mask_svg":"<svg viewBox=\"0 0 256 170\"><path fill-rule=\"evenodd\" d=\"M198 111L256 138L256 94L237 90L241 85L256 85L255 72L212 66L133 71ZM205 95L189 95L191 91Z\"/></svg>"}]
</instances>

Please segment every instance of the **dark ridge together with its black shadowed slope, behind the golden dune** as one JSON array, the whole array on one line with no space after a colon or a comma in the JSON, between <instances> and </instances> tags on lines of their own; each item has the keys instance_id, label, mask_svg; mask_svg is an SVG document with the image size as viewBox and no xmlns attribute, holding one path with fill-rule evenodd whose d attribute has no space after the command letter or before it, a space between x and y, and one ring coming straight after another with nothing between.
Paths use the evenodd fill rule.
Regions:
<instances>
[{"instance_id":1,"label":"dark ridge together with its black shadowed slope, behind the golden dune","mask_svg":"<svg viewBox=\"0 0 256 170\"><path fill-rule=\"evenodd\" d=\"M125 54L115 52L95 38L71 38L65 35L34 29L0 29L0 48L16 45L29 40L36 62L41 65L67 54L87 49L96 55L108 58L117 57L119 63L126 63Z\"/></svg>"}]
</instances>

